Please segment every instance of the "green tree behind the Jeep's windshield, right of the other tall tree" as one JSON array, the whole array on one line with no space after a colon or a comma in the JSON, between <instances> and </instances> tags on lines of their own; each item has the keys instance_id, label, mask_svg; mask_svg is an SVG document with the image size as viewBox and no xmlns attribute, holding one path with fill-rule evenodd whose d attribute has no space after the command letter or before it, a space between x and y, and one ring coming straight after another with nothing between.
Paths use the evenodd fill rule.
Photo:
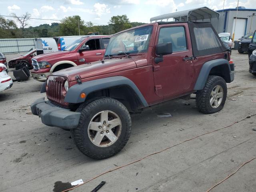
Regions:
<instances>
[{"instance_id":1,"label":"green tree behind the Jeep's windshield, right of the other tall tree","mask_svg":"<svg viewBox=\"0 0 256 192\"><path fill-rule=\"evenodd\" d=\"M127 15L112 16L109 22L115 33L132 27Z\"/></svg>"}]
</instances>

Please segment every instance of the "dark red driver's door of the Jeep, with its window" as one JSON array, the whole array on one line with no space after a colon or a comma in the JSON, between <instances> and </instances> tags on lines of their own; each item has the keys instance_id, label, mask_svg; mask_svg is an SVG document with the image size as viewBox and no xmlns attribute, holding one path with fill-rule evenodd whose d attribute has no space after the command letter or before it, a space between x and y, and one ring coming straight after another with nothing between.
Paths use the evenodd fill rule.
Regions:
<instances>
[{"instance_id":1,"label":"dark red driver's door of the Jeep, with its window","mask_svg":"<svg viewBox=\"0 0 256 192\"><path fill-rule=\"evenodd\" d=\"M194 76L192 46L189 29L184 24L158 25L156 45L172 42L172 54L164 55L163 62L153 60L155 92L158 96L175 96L190 88ZM154 53L155 54L155 53ZM185 58L185 60L184 60Z\"/></svg>"}]
</instances>

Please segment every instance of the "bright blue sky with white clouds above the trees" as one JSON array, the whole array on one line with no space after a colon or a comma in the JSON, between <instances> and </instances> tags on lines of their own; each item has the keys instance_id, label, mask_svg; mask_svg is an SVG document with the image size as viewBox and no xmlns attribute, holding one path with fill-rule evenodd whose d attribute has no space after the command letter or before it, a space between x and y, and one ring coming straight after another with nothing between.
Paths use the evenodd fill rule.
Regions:
<instances>
[{"instance_id":1,"label":"bright blue sky with white clouds above the trees","mask_svg":"<svg viewBox=\"0 0 256 192\"><path fill-rule=\"evenodd\" d=\"M36 2L36 3L35 3ZM236 0L225 0L224 8L235 8ZM131 22L150 22L150 18L207 6L223 8L223 0L0 0L1 15L29 12L32 18L61 20L66 16L80 15L85 22L107 24L112 16L126 14ZM256 8L256 0L240 0L239 6ZM54 21L30 20L30 26Z\"/></svg>"}]
</instances>

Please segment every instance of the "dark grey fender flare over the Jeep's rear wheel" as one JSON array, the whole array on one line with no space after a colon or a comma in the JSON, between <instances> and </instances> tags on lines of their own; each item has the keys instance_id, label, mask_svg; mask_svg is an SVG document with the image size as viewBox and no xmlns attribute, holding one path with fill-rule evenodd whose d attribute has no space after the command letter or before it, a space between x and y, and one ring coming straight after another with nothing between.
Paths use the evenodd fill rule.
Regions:
<instances>
[{"instance_id":1,"label":"dark grey fender flare over the Jeep's rear wheel","mask_svg":"<svg viewBox=\"0 0 256 192\"><path fill-rule=\"evenodd\" d=\"M222 73L225 73L225 77L224 78L226 80L227 83L230 83L234 80L234 74L232 74L231 70L230 70L230 65L228 63L228 61L226 59L214 59L214 60L210 60L208 62L205 62L200 70L200 73L198 75L198 78L196 80L196 84L194 86L194 90L202 90L204 88L204 84L210 74L210 71L212 68L216 67L216 66L225 66L226 69L228 69L228 71L222 71ZM226 74L228 73L228 74Z\"/></svg>"}]
</instances>

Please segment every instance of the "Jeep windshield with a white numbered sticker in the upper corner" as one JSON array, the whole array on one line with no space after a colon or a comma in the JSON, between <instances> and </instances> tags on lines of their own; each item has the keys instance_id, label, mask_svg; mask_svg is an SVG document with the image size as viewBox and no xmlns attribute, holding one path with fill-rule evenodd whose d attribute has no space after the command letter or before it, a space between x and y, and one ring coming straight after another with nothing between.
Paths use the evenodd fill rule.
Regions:
<instances>
[{"instance_id":1,"label":"Jeep windshield with a white numbered sticker in the upper corner","mask_svg":"<svg viewBox=\"0 0 256 192\"><path fill-rule=\"evenodd\" d=\"M146 26L112 36L105 56L147 52L152 29L153 26Z\"/></svg>"}]
</instances>

